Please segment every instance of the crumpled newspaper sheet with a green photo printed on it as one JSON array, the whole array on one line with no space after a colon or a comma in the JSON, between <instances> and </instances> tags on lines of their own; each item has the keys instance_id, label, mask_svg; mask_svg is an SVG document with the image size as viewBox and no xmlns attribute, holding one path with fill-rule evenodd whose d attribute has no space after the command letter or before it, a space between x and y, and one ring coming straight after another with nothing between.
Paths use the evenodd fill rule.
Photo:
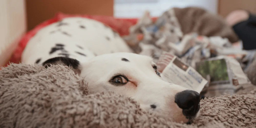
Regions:
<instances>
[{"instance_id":1,"label":"crumpled newspaper sheet with a green photo printed on it","mask_svg":"<svg viewBox=\"0 0 256 128\"><path fill-rule=\"evenodd\" d=\"M217 56L197 63L196 70L204 77L209 77L206 97L234 94L243 84L251 83L243 72L240 63L228 56Z\"/></svg>"}]
</instances>

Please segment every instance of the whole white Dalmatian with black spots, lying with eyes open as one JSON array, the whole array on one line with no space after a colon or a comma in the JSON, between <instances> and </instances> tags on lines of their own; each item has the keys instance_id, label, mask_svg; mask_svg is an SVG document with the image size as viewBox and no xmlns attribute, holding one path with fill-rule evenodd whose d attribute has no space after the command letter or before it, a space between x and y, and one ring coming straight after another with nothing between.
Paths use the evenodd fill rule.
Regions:
<instances>
[{"instance_id":1,"label":"whole white Dalmatian with black spots, lying with eyes open","mask_svg":"<svg viewBox=\"0 0 256 128\"><path fill-rule=\"evenodd\" d=\"M102 23L66 18L41 29L28 42L22 62L46 68L69 66L88 82L90 92L123 94L137 100L142 109L176 122L189 122L198 115L197 92L165 82L151 57L129 52L121 37Z\"/></svg>"}]
</instances>

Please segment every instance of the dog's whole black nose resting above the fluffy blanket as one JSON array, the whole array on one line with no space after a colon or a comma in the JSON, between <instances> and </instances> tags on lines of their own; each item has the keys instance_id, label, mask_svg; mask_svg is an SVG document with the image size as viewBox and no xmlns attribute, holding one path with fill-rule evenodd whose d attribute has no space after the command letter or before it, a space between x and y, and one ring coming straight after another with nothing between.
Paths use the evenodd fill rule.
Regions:
<instances>
[{"instance_id":1,"label":"dog's whole black nose resting above the fluffy blanket","mask_svg":"<svg viewBox=\"0 0 256 128\"><path fill-rule=\"evenodd\" d=\"M193 117L200 109L200 94L196 91L185 90L175 95L175 103L179 108L183 109L183 114L188 117Z\"/></svg>"}]
</instances>

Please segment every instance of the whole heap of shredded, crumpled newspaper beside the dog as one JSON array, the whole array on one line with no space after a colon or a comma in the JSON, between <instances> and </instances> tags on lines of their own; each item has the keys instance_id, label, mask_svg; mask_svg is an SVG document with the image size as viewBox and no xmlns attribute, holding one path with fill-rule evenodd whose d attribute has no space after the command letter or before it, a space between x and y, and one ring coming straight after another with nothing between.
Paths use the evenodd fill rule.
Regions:
<instances>
[{"instance_id":1,"label":"whole heap of shredded, crumpled newspaper beside the dog","mask_svg":"<svg viewBox=\"0 0 256 128\"><path fill-rule=\"evenodd\" d=\"M206 37L197 33L184 35L172 8L155 22L146 11L138 23L130 28L130 35L124 37L124 40L135 53L152 56L161 67L160 72L166 81L206 96L233 94L242 84L250 83L243 70L254 60L255 51L242 50L241 42L231 44L228 39L218 36ZM186 71L177 62L182 63ZM208 67L201 69L202 63L208 63L205 64ZM221 66L227 69L226 74L212 70ZM215 77L226 79L216 82Z\"/></svg>"}]
</instances>

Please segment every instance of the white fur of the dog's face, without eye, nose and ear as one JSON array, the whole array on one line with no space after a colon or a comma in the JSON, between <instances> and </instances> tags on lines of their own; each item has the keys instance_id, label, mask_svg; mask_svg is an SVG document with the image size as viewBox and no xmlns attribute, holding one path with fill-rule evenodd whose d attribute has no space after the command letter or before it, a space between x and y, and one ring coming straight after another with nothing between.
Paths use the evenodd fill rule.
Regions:
<instances>
[{"instance_id":1,"label":"white fur of the dog's face, without eye, nose and ear","mask_svg":"<svg viewBox=\"0 0 256 128\"><path fill-rule=\"evenodd\" d=\"M129 62L122 61L126 58ZM172 118L177 122L187 122L182 109L174 102L175 94L186 88L165 82L159 77L152 65L151 57L133 53L113 53L96 56L81 64L81 74L89 86L90 92L114 91L136 99L142 109L154 111ZM124 86L113 86L109 81L115 74L123 74L129 79Z\"/></svg>"}]
</instances>

